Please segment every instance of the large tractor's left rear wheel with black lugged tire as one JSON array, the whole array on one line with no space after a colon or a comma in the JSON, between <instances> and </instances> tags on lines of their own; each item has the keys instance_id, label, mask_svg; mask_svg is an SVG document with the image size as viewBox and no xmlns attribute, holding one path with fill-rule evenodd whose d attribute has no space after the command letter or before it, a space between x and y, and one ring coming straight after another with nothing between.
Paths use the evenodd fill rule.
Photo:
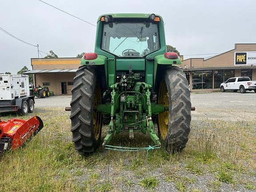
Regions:
<instances>
[{"instance_id":1,"label":"large tractor's left rear wheel with black lugged tire","mask_svg":"<svg viewBox=\"0 0 256 192\"><path fill-rule=\"evenodd\" d=\"M81 155L95 152L100 145L102 115L96 106L102 103L102 92L94 68L79 68L71 90L71 131L75 149Z\"/></svg>"}]
</instances>

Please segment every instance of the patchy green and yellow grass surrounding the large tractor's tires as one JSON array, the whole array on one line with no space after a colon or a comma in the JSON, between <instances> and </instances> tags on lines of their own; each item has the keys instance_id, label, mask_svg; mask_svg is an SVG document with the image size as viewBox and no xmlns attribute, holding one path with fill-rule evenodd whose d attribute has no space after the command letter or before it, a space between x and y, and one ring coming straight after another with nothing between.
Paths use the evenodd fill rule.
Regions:
<instances>
[{"instance_id":1,"label":"patchy green and yellow grass surrounding the large tractor's tires","mask_svg":"<svg viewBox=\"0 0 256 192\"><path fill-rule=\"evenodd\" d=\"M144 151L99 148L90 156L80 156L71 142L68 112L63 108L36 108L33 115L42 118L44 128L24 148L0 157L1 191L105 192L120 191L120 186L152 189L168 182L182 192L191 189L203 175L213 178L207 181L208 190L220 191L223 183L240 185L244 190L255 189L255 183L240 181L255 176L253 121L194 120L182 153L171 154L160 148L149 151L146 157ZM8 118L12 116L1 117ZM106 131L104 128L102 137ZM112 145L148 144L151 140L143 134L135 134L133 141L125 133L112 139Z\"/></svg>"}]
</instances>

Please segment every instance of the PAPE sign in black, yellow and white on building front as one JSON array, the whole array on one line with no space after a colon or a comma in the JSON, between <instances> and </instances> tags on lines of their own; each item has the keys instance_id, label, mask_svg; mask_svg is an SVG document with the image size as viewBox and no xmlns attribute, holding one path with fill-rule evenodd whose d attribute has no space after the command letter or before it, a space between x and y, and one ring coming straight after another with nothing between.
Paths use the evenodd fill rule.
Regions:
<instances>
[{"instance_id":1,"label":"PAPE sign in black, yellow and white on building front","mask_svg":"<svg viewBox=\"0 0 256 192\"><path fill-rule=\"evenodd\" d=\"M256 52L235 52L235 65L256 65Z\"/></svg>"}]
</instances>

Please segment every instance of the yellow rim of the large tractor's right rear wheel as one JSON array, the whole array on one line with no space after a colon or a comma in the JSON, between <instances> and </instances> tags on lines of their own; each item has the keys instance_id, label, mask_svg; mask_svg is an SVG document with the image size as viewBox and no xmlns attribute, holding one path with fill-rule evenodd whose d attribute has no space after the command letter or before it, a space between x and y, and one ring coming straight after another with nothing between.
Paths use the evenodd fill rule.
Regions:
<instances>
[{"instance_id":1,"label":"yellow rim of the large tractor's right rear wheel","mask_svg":"<svg viewBox=\"0 0 256 192\"><path fill-rule=\"evenodd\" d=\"M168 90L167 90L165 81L162 81L160 84L158 104L163 104L164 107L169 107ZM161 112L158 115L158 125L159 125L160 135L163 139L165 139L168 134L168 127L169 127L168 111Z\"/></svg>"}]
</instances>

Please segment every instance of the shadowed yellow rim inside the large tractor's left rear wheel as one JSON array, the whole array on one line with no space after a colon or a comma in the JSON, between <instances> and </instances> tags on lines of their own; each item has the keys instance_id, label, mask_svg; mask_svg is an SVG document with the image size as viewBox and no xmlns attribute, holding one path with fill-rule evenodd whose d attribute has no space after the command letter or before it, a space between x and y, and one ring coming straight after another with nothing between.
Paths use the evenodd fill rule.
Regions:
<instances>
[{"instance_id":1,"label":"shadowed yellow rim inside the large tractor's left rear wheel","mask_svg":"<svg viewBox=\"0 0 256 192\"><path fill-rule=\"evenodd\" d=\"M97 106L101 104L101 90L100 85L96 84L96 88L94 90L94 100L93 100L93 130L94 137L96 140L100 137L100 128L101 128L101 114L97 112Z\"/></svg>"}]
</instances>

